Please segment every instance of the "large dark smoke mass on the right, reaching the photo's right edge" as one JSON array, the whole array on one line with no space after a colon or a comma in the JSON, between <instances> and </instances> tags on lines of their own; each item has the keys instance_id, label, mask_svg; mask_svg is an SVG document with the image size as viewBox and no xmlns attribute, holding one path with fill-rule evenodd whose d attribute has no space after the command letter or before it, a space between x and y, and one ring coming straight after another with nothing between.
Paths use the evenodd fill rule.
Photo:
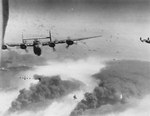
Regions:
<instances>
[{"instance_id":1,"label":"large dark smoke mass on the right, reaching the photo's right edge","mask_svg":"<svg viewBox=\"0 0 150 116\"><path fill-rule=\"evenodd\" d=\"M96 79L100 80L99 85L92 93L85 93L85 98L78 103L70 115L90 114L91 109L101 110L102 106L109 104L112 106L122 104L121 106L124 105L125 110L125 104L130 98L142 98L150 93L149 75L149 62L109 62L105 69L94 75ZM106 109L108 108L106 107ZM123 108L115 110L121 111Z\"/></svg>"}]
</instances>

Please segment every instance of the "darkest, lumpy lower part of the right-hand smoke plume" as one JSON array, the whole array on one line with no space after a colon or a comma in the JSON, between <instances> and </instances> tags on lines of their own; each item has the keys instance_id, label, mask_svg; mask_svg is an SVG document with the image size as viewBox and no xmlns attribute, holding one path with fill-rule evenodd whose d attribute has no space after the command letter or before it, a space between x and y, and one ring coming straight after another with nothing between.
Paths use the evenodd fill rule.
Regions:
<instances>
[{"instance_id":1,"label":"darkest, lumpy lower part of the right-hand smoke plume","mask_svg":"<svg viewBox=\"0 0 150 116\"><path fill-rule=\"evenodd\" d=\"M105 85L104 82L101 82L99 86L95 87L92 93L85 93L84 97L71 113L71 116L81 115L86 110L99 108L102 105L113 105L117 102L124 102L121 92Z\"/></svg>"}]
</instances>

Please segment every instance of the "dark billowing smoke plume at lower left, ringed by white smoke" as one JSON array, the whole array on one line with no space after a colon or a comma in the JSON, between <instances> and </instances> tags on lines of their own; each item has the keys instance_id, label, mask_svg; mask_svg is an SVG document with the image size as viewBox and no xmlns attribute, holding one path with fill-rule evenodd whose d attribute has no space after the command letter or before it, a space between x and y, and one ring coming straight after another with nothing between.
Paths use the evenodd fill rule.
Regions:
<instances>
[{"instance_id":1,"label":"dark billowing smoke plume at lower left, ringed by white smoke","mask_svg":"<svg viewBox=\"0 0 150 116\"><path fill-rule=\"evenodd\" d=\"M61 80L59 76L44 77L35 75L34 78L38 79L39 82L31 85L29 90L20 90L18 97L12 102L9 112L40 110L49 105L52 100L78 90L81 85L80 82L75 80Z\"/></svg>"}]
</instances>

